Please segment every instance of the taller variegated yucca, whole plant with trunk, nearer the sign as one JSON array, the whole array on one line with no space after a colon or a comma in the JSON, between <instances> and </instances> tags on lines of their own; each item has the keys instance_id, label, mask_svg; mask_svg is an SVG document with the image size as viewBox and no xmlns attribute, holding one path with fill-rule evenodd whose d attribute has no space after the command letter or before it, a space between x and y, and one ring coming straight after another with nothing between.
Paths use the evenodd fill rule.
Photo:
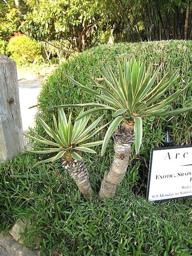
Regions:
<instances>
[{"instance_id":1,"label":"taller variegated yucca, whole plant with trunk, nearer the sign","mask_svg":"<svg viewBox=\"0 0 192 256\"><path fill-rule=\"evenodd\" d=\"M145 61L141 62L140 59L134 60L132 58L130 62L125 59L124 72L122 71L121 64L118 62L118 77L115 76L110 66L106 69L101 65L101 68L101 75L105 81L105 86L101 86L89 77L92 83L94 83L94 86L100 88L100 92L98 92L99 90L92 90L89 87L81 85L70 77L68 77L68 79L107 104L87 103L62 105L59 107L94 107L79 115L79 118L99 110L113 111L114 120L111 122L105 134L101 151L103 155L113 135L115 139L115 157L110 171L105 172L105 177L100 188L100 197L104 196L110 198L114 196L117 184L122 181L126 173L132 142L135 141L136 154L139 152L143 137L142 118L177 115L190 111L192 107L170 110L170 103L178 98L191 83L183 87L182 90L177 90L177 92L165 98L164 92L176 81L178 71L169 77L168 74L164 75L162 79L152 87L156 81L160 67L157 68L153 74L152 65L150 64L146 70Z\"/></svg>"}]
</instances>

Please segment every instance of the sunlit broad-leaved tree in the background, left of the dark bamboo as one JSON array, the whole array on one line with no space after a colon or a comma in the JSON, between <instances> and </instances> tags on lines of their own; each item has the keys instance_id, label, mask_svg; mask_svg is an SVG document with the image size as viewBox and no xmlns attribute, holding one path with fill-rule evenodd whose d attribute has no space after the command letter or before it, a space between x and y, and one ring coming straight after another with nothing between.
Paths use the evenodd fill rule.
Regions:
<instances>
[{"instance_id":1,"label":"sunlit broad-leaved tree in the background, left of the dark bamboo","mask_svg":"<svg viewBox=\"0 0 192 256\"><path fill-rule=\"evenodd\" d=\"M37 40L64 39L81 52L96 43L102 30L103 15L95 0L39 0L32 7L22 29Z\"/></svg>"}]
</instances>

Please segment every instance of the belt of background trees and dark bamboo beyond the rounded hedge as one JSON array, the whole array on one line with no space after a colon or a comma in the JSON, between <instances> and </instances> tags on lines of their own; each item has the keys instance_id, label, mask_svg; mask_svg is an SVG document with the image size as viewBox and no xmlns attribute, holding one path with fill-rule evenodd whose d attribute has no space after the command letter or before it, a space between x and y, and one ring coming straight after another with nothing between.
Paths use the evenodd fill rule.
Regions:
<instances>
[{"instance_id":1,"label":"belt of background trees and dark bamboo beyond the rounded hedge","mask_svg":"<svg viewBox=\"0 0 192 256\"><path fill-rule=\"evenodd\" d=\"M0 39L23 32L66 41L78 52L109 36L116 42L192 38L191 0L2 0L0 10Z\"/></svg>"}]
</instances>

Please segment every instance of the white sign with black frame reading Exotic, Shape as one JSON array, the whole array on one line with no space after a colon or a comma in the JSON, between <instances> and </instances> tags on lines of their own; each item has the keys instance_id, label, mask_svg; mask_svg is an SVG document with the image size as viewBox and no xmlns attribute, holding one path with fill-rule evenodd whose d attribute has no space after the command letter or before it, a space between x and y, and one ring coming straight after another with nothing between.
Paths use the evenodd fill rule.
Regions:
<instances>
[{"instance_id":1,"label":"white sign with black frame reading Exotic, Shape","mask_svg":"<svg viewBox=\"0 0 192 256\"><path fill-rule=\"evenodd\" d=\"M151 149L148 201L192 196L192 145Z\"/></svg>"}]
</instances>

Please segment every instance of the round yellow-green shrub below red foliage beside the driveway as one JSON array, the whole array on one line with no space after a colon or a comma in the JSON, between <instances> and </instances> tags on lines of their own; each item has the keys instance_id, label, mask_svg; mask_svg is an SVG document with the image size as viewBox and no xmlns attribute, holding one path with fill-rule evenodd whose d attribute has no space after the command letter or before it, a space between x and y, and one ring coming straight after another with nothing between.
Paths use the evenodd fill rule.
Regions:
<instances>
[{"instance_id":1,"label":"round yellow-green shrub below red foliage beside the driveway","mask_svg":"<svg viewBox=\"0 0 192 256\"><path fill-rule=\"evenodd\" d=\"M28 36L18 34L9 40L8 51L17 63L32 63L40 55L38 43Z\"/></svg>"}]
</instances>

